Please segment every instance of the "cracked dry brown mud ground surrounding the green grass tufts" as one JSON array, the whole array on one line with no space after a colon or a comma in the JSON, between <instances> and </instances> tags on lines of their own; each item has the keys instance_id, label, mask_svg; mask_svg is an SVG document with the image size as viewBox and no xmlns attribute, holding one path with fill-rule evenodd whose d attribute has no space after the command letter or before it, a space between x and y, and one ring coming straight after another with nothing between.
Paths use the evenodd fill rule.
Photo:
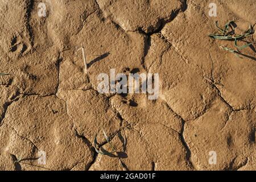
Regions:
<instances>
[{"instance_id":1,"label":"cracked dry brown mud ground surrounding the green grass tufts","mask_svg":"<svg viewBox=\"0 0 256 182\"><path fill-rule=\"evenodd\" d=\"M207 37L216 20L254 25L254 0L42 2L46 17L39 1L0 2L0 170L256 170L256 53ZM159 73L158 100L98 93L112 68ZM111 150L102 127L118 157L94 150L95 135Z\"/></svg>"}]
</instances>

